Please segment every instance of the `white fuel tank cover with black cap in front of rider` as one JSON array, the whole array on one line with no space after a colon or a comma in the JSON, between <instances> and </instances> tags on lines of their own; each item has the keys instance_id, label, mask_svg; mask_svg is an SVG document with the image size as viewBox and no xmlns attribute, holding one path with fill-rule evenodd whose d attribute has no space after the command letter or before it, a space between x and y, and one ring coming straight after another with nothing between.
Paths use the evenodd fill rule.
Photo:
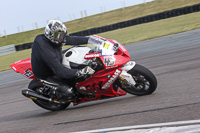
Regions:
<instances>
[{"instance_id":1,"label":"white fuel tank cover with black cap in front of rider","mask_svg":"<svg viewBox=\"0 0 200 133\"><path fill-rule=\"evenodd\" d=\"M88 47L73 47L63 54L62 64L70 69L71 67L69 65L69 62L73 62L76 64L84 64L87 61L84 59L84 56L90 50L91 49Z\"/></svg>"}]
</instances>

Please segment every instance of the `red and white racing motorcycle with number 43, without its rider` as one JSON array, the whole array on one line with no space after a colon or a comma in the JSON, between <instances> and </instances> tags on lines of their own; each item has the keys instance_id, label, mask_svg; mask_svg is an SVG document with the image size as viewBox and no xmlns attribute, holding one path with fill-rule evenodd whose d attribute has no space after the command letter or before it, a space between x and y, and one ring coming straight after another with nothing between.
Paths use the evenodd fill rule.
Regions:
<instances>
[{"instance_id":1,"label":"red and white racing motorcycle with number 43, without its rider","mask_svg":"<svg viewBox=\"0 0 200 133\"><path fill-rule=\"evenodd\" d=\"M22 94L32 99L38 106L57 111L67 108L70 103L78 105L83 102L101 100L127 93L137 96L152 94L157 88L155 75L142 65L131 61L127 49L112 39L104 39L103 44L90 43L87 46L74 46L63 52L63 65L71 69L81 69L90 66L95 70L93 75L74 79L70 84L74 97L60 102L49 93L56 90L58 85L46 80L36 79L32 72L30 58L11 64L11 68L24 77L32 79L28 89Z\"/></svg>"}]
</instances>

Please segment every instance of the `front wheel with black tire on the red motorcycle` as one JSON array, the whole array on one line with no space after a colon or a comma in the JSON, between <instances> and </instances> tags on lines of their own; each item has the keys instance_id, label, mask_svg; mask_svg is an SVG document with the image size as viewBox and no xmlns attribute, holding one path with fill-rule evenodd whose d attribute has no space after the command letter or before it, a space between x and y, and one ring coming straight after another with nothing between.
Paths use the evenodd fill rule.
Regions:
<instances>
[{"instance_id":1,"label":"front wheel with black tire on the red motorcycle","mask_svg":"<svg viewBox=\"0 0 200 133\"><path fill-rule=\"evenodd\" d=\"M157 79L149 69L136 64L128 73L132 75L136 84L133 87L122 88L124 91L133 95L143 96L152 94L156 90Z\"/></svg>"}]
</instances>

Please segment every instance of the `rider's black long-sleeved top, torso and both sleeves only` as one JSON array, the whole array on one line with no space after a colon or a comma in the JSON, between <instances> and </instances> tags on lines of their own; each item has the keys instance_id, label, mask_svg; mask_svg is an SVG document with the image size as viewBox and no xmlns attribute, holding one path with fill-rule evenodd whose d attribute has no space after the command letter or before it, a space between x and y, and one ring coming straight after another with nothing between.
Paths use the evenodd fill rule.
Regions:
<instances>
[{"instance_id":1,"label":"rider's black long-sleeved top, torso and both sleeves only","mask_svg":"<svg viewBox=\"0 0 200 133\"><path fill-rule=\"evenodd\" d=\"M66 45L87 44L88 37L68 36ZM69 69L62 65L62 48L56 46L44 34L38 35L32 45L32 71L36 78L46 79L56 75L60 79L75 77L76 69Z\"/></svg>"}]
</instances>

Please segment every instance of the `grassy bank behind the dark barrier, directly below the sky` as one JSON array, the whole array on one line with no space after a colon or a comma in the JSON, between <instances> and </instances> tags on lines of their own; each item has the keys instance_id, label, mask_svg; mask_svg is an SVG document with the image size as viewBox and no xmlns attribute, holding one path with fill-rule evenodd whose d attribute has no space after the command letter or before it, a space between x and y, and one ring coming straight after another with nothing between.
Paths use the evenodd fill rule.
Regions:
<instances>
[{"instance_id":1,"label":"grassy bank behind the dark barrier, directly below the sky","mask_svg":"<svg viewBox=\"0 0 200 133\"><path fill-rule=\"evenodd\" d=\"M200 0L155 0L146 4L70 21L65 24L68 27L69 33L74 33L198 3L200 3ZM42 33L44 33L44 28L8 35L7 37L0 37L0 46L33 42L36 35Z\"/></svg>"}]
</instances>

